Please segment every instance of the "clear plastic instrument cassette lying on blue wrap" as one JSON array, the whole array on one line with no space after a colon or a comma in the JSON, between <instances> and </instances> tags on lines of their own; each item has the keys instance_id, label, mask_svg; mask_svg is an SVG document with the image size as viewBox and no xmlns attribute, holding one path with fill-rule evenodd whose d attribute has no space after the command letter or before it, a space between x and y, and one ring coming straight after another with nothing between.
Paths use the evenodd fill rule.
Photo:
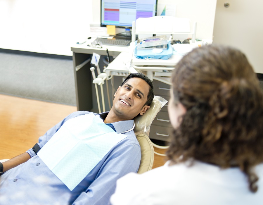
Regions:
<instances>
[{"instance_id":1,"label":"clear plastic instrument cassette lying on blue wrap","mask_svg":"<svg viewBox=\"0 0 263 205\"><path fill-rule=\"evenodd\" d=\"M153 36L149 38L140 39L137 43L137 49L153 47L153 46L161 46L161 45L167 45L166 35Z\"/></svg>"}]
</instances>

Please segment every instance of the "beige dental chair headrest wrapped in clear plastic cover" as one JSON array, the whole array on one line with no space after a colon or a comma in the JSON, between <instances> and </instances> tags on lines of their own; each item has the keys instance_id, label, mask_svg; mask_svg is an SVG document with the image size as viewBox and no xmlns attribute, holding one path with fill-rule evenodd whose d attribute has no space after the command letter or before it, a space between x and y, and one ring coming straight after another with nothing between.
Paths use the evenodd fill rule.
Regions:
<instances>
[{"instance_id":1,"label":"beige dental chair headrest wrapped in clear plastic cover","mask_svg":"<svg viewBox=\"0 0 263 205\"><path fill-rule=\"evenodd\" d=\"M140 134L141 132L146 132L147 135L149 135L150 125L166 102L167 101L164 98L154 96L150 108L143 115L138 115L134 118L135 127L133 130L135 135Z\"/></svg>"}]
</instances>

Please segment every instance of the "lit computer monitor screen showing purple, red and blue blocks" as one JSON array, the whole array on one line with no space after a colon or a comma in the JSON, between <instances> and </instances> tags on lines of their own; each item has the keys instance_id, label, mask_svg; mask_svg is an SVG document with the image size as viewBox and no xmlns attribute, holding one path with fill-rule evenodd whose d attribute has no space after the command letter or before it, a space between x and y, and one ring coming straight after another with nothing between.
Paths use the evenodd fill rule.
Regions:
<instances>
[{"instance_id":1,"label":"lit computer monitor screen showing purple, red and blue blocks","mask_svg":"<svg viewBox=\"0 0 263 205\"><path fill-rule=\"evenodd\" d=\"M101 26L130 28L140 17L156 16L157 0L101 0Z\"/></svg>"}]
</instances>

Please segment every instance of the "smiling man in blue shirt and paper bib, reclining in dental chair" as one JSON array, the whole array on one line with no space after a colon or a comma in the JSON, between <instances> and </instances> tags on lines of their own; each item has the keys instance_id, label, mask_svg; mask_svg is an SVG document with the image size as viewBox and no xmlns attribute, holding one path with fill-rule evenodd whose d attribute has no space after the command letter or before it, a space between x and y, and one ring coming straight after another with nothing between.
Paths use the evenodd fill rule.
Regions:
<instances>
[{"instance_id":1,"label":"smiling man in blue shirt and paper bib, reclining in dental chair","mask_svg":"<svg viewBox=\"0 0 263 205\"><path fill-rule=\"evenodd\" d=\"M0 204L108 204L116 180L139 168L133 118L150 107L153 83L132 73L114 97L109 112L74 112L0 163Z\"/></svg>"}]
</instances>

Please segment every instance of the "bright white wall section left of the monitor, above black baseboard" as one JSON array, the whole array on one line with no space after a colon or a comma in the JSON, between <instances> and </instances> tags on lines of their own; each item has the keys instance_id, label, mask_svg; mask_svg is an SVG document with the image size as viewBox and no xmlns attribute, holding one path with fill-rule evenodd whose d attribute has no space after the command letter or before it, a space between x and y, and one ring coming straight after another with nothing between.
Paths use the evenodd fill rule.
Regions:
<instances>
[{"instance_id":1,"label":"bright white wall section left of the monitor, above black baseboard","mask_svg":"<svg viewBox=\"0 0 263 205\"><path fill-rule=\"evenodd\" d=\"M91 9L91 0L0 0L0 48L72 56Z\"/></svg>"}]
</instances>

